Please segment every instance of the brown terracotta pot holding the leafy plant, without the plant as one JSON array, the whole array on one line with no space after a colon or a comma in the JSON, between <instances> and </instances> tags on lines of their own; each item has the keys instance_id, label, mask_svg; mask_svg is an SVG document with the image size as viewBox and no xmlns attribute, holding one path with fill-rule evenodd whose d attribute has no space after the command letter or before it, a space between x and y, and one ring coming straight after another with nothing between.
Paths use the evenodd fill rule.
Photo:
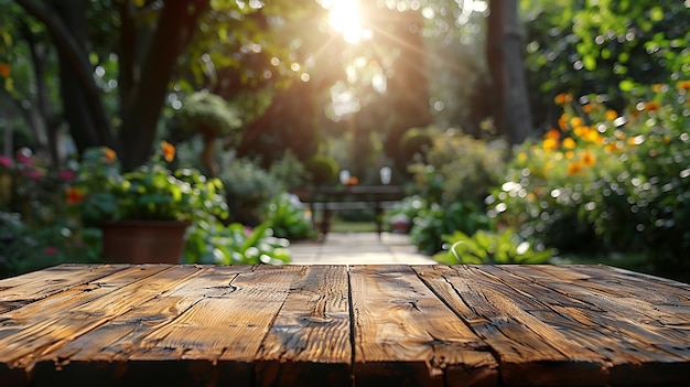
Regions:
<instances>
[{"instance_id":1,"label":"brown terracotta pot holding the leafy plant, without the plant","mask_svg":"<svg viewBox=\"0 0 690 387\"><path fill-rule=\"evenodd\" d=\"M111 264L177 264L184 251L185 222L117 221L103 229L103 259Z\"/></svg>"}]
</instances>

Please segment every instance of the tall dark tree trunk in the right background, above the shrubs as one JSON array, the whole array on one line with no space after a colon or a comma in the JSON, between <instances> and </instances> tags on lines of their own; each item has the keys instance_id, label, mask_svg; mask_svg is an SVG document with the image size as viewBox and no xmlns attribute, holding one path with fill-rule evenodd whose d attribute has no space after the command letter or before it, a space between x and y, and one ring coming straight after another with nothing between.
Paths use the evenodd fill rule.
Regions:
<instances>
[{"instance_id":1,"label":"tall dark tree trunk in the right background, above the shrubs","mask_svg":"<svg viewBox=\"0 0 690 387\"><path fill-rule=\"evenodd\" d=\"M486 55L494 89L494 119L498 132L513 144L532 131L525 82L517 0L492 0Z\"/></svg>"}]
</instances>

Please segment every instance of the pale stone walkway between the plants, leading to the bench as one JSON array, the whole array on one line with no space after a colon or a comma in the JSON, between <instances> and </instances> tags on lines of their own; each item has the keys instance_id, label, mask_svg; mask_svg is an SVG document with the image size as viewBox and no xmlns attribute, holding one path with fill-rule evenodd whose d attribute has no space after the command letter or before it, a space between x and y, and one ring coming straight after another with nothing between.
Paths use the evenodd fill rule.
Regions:
<instances>
[{"instance_id":1,"label":"pale stone walkway between the plants, leading to the bench","mask_svg":"<svg viewBox=\"0 0 690 387\"><path fill-rule=\"evenodd\" d=\"M330 233L323 241L297 241L290 246L292 265L434 265L417 252L409 237L384 233Z\"/></svg>"}]
</instances>

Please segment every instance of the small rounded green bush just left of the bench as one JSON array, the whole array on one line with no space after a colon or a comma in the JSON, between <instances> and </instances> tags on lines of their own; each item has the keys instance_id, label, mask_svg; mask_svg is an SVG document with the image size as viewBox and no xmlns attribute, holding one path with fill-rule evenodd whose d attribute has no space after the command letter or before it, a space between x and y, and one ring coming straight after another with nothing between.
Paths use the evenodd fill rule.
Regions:
<instances>
[{"instance_id":1,"label":"small rounded green bush just left of the bench","mask_svg":"<svg viewBox=\"0 0 690 387\"><path fill-rule=\"evenodd\" d=\"M283 193L268 206L267 221L270 222L273 235L289 240L316 237L306 212L295 195Z\"/></svg>"}]
</instances>

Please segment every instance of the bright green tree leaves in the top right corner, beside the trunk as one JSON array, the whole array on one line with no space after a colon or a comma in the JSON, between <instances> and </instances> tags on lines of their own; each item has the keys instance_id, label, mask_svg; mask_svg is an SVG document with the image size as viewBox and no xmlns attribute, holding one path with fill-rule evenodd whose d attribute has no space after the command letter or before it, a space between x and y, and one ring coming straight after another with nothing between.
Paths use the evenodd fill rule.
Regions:
<instances>
[{"instance_id":1,"label":"bright green tree leaves in the top right corner, beside the trunk","mask_svg":"<svg viewBox=\"0 0 690 387\"><path fill-rule=\"evenodd\" d=\"M688 8L676 0L522 1L532 112L548 125L551 98L607 95L622 109L630 82L651 85L687 74Z\"/></svg>"}]
</instances>

